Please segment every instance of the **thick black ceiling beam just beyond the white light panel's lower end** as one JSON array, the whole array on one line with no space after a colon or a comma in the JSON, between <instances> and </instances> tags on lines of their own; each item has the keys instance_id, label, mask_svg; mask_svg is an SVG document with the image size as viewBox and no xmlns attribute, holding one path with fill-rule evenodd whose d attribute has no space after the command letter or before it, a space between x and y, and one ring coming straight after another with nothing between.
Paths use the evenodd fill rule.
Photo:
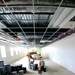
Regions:
<instances>
[{"instance_id":1,"label":"thick black ceiling beam just beyond the white light panel's lower end","mask_svg":"<svg viewBox=\"0 0 75 75\"><path fill-rule=\"evenodd\" d=\"M43 28L43 29L39 29L39 28L35 28L35 32L44 32L45 31L45 29L46 28ZM3 29L3 30L5 30L5 31L8 31L8 29ZM21 32L21 29L19 28L19 29L11 29L12 31L14 31L14 32ZM23 28L23 30L25 31L25 32L33 32L33 28ZM56 30L58 30L58 28L49 28L48 29L48 31L47 32L55 32ZM67 31L67 30L69 30L69 29L63 29L63 28L61 28L58 32L65 32L65 31Z\"/></svg>"}]
</instances>

